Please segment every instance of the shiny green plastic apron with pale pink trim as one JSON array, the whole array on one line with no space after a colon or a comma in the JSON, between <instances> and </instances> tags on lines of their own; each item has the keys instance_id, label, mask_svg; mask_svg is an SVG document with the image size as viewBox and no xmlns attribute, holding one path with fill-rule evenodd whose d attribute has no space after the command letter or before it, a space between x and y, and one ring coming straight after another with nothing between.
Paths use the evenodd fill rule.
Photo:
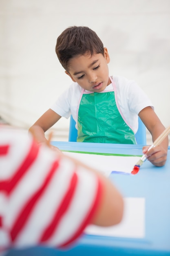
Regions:
<instances>
[{"instance_id":1,"label":"shiny green plastic apron with pale pink trim","mask_svg":"<svg viewBox=\"0 0 170 256\"><path fill-rule=\"evenodd\" d=\"M137 144L117 108L113 81L112 85L111 91L83 90L78 108L78 142Z\"/></svg>"}]
</instances>

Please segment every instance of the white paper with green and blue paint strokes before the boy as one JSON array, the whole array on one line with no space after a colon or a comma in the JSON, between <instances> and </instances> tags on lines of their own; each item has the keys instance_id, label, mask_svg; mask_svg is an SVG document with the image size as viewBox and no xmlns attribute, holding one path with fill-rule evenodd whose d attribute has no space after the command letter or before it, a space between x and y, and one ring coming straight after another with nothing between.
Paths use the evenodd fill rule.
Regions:
<instances>
[{"instance_id":1,"label":"white paper with green and blue paint strokes before the boy","mask_svg":"<svg viewBox=\"0 0 170 256\"><path fill-rule=\"evenodd\" d=\"M137 156L95 155L73 152L63 153L83 162L91 168L101 171L107 177L112 171L131 173L134 165L140 159L140 157Z\"/></svg>"}]
</instances>

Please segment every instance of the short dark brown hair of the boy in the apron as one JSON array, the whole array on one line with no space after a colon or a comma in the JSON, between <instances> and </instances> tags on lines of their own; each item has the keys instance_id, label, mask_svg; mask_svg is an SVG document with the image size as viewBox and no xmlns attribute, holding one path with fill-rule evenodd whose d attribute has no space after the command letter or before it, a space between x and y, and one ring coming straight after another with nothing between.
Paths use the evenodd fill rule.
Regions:
<instances>
[{"instance_id":1,"label":"short dark brown hair of the boy in the apron","mask_svg":"<svg viewBox=\"0 0 170 256\"><path fill-rule=\"evenodd\" d=\"M57 38L55 52L64 69L68 71L71 58L86 53L104 55L104 46L93 30L73 26L65 29Z\"/></svg>"}]
</instances>

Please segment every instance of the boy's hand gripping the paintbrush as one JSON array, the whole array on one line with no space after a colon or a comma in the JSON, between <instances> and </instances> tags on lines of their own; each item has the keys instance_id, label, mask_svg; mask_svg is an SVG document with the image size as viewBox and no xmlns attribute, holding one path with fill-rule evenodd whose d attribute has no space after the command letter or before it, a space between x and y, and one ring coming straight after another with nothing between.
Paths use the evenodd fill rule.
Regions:
<instances>
[{"instance_id":1,"label":"boy's hand gripping the paintbrush","mask_svg":"<svg viewBox=\"0 0 170 256\"><path fill-rule=\"evenodd\" d=\"M167 150L162 146L156 146L148 151L150 146L143 147L143 153L147 159L155 166L163 166L167 159Z\"/></svg>"}]
</instances>

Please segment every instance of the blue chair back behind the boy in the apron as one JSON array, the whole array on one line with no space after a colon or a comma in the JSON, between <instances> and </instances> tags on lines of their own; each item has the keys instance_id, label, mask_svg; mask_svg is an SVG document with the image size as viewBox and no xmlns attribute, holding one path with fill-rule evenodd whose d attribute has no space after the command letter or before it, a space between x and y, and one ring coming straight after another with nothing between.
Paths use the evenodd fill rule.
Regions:
<instances>
[{"instance_id":1,"label":"blue chair back behind the boy in the apron","mask_svg":"<svg viewBox=\"0 0 170 256\"><path fill-rule=\"evenodd\" d=\"M146 127L140 118L138 118L138 122L139 127L137 133L135 134L137 144L146 145ZM72 115L70 117L68 141L77 141L77 129L75 128L75 121Z\"/></svg>"}]
</instances>

